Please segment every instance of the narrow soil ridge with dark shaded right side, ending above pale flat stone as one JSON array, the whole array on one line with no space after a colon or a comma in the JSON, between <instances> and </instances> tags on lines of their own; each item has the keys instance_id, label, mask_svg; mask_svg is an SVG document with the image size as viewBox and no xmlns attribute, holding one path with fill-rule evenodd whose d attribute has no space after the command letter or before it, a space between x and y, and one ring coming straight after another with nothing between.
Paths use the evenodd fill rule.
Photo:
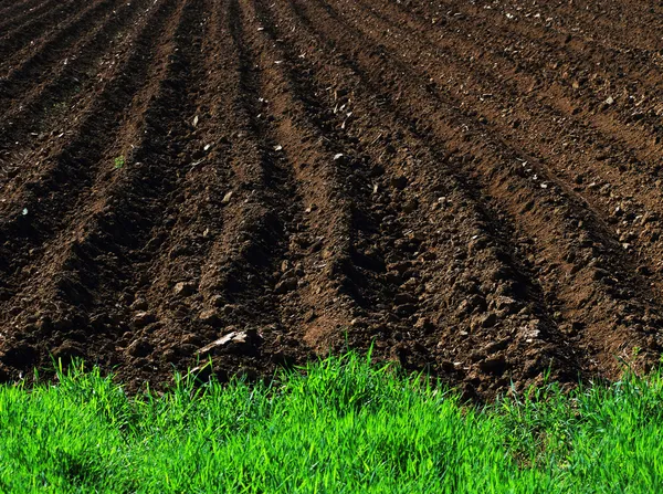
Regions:
<instances>
[{"instance_id":1,"label":"narrow soil ridge with dark shaded right side, ending above pale flat stone","mask_svg":"<svg viewBox=\"0 0 663 494\"><path fill-rule=\"evenodd\" d=\"M245 22L234 0L225 3L217 20L217 40L230 56L225 63L219 61L229 83L215 102L214 114L232 122L234 130L217 138L220 147L214 155L225 160L230 172L222 200L227 222L210 251L200 285L207 304L223 303L227 311L236 309L240 319L255 304L255 324L272 325L282 333L274 273L285 261L298 198L269 132L264 73L248 40Z\"/></svg>"}]
</instances>

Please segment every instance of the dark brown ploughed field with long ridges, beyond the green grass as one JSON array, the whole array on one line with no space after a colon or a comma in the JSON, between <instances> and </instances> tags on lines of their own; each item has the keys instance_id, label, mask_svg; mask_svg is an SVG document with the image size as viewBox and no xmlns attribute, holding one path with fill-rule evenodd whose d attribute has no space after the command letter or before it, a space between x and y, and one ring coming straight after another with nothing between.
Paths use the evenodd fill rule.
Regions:
<instances>
[{"instance_id":1,"label":"dark brown ploughed field with long ridges, beyond the green grass","mask_svg":"<svg viewBox=\"0 0 663 494\"><path fill-rule=\"evenodd\" d=\"M663 345L663 3L0 0L0 380Z\"/></svg>"}]
</instances>

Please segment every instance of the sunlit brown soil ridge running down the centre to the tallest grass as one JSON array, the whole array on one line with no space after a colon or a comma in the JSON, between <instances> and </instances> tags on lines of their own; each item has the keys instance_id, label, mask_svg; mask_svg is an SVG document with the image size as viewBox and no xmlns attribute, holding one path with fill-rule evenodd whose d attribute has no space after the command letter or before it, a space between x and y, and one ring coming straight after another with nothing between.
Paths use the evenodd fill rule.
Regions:
<instances>
[{"instance_id":1,"label":"sunlit brown soil ridge running down the centre to the tallest grass","mask_svg":"<svg viewBox=\"0 0 663 494\"><path fill-rule=\"evenodd\" d=\"M358 213L352 187L346 182L357 161L329 132L333 113L317 104L319 88L291 65L295 55L280 41L271 13L261 2L245 6L245 11L251 51L262 54L257 65L264 74L264 106L275 117L267 132L299 198L291 227L291 261L282 267L280 282L290 283L294 271L298 290L282 297L281 305L285 312L304 305L299 316L308 314L311 320L297 320L295 329L326 351L343 343L357 308L354 288L361 283L352 280L360 276L351 265Z\"/></svg>"}]
</instances>

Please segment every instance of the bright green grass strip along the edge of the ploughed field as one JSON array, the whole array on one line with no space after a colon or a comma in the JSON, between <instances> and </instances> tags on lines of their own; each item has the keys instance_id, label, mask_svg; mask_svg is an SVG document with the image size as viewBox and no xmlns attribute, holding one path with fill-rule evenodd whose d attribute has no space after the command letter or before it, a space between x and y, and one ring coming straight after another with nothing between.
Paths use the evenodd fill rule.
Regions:
<instances>
[{"instance_id":1,"label":"bright green grass strip along the edge of the ploughed field","mask_svg":"<svg viewBox=\"0 0 663 494\"><path fill-rule=\"evenodd\" d=\"M356 355L269 386L127 398L98 371L0 388L0 491L663 492L663 378L477 409Z\"/></svg>"}]
</instances>

